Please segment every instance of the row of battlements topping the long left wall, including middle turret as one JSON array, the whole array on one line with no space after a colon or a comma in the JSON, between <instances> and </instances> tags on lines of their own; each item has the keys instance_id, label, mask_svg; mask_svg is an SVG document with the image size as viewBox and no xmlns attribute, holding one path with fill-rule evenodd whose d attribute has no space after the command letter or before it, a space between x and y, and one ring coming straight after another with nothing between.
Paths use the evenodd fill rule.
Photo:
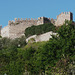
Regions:
<instances>
[{"instance_id":1,"label":"row of battlements topping the long left wall, including middle turret","mask_svg":"<svg viewBox=\"0 0 75 75\"><path fill-rule=\"evenodd\" d=\"M20 23L33 23L33 25L40 25L40 24L44 24L44 23L49 23L50 22L50 20L52 20L52 19L50 19L50 18L46 18L46 17L39 17L38 19L35 19L35 18L15 18L14 19L15 21L8 21L8 25L16 25L16 24L20 24Z\"/></svg>"}]
</instances>

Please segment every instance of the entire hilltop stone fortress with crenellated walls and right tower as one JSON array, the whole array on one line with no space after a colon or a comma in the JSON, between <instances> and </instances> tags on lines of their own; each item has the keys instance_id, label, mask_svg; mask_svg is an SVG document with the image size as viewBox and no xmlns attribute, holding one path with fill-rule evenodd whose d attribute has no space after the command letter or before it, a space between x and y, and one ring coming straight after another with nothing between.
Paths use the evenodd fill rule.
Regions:
<instances>
[{"instance_id":1,"label":"entire hilltop stone fortress with crenellated walls and right tower","mask_svg":"<svg viewBox=\"0 0 75 75\"><path fill-rule=\"evenodd\" d=\"M63 12L57 16L57 19L46 17L39 17L38 19L15 18L15 21L9 21L6 27L2 28L2 26L0 26L0 35L11 39L19 38L24 35L25 29L32 25L37 26L44 23L53 23L55 26L61 26L65 20L73 20L73 14L71 12Z\"/></svg>"}]
</instances>

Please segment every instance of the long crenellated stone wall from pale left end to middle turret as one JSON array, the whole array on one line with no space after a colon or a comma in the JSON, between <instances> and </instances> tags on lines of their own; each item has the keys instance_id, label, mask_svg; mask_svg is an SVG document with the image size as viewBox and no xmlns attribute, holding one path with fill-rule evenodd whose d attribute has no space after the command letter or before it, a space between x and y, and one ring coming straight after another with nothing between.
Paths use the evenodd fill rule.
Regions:
<instances>
[{"instance_id":1,"label":"long crenellated stone wall from pale left end to middle turret","mask_svg":"<svg viewBox=\"0 0 75 75\"><path fill-rule=\"evenodd\" d=\"M40 25L45 22L50 22L49 19L45 17L40 17L37 19L22 19L15 18L15 21L9 21L8 26L1 30L2 37L9 37L11 39L19 38L24 36L25 29L31 27L32 25Z\"/></svg>"}]
</instances>

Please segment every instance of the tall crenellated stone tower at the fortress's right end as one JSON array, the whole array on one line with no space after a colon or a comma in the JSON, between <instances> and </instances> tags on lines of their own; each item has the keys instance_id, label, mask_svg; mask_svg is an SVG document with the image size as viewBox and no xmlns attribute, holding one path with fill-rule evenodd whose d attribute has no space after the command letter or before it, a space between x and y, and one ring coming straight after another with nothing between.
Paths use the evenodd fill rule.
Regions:
<instances>
[{"instance_id":1,"label":"tall crenellated stone tower at the fortress's right end","mask_svg":"<svg viewBox=\"0 0 75 75\"><path fill-rule=\"evenodd\" d=\"M57 21L55 22L56 26L61 26L65 20L73 20L73 14L71 12L62 12L57 16Z\"/></svg>"}]
</instances>

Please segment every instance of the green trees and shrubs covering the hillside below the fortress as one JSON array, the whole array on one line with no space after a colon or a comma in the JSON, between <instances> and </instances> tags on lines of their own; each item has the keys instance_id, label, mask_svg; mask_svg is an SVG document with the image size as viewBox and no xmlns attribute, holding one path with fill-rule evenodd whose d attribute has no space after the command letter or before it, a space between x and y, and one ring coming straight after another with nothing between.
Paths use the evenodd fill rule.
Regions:
<instances>
[{"instance_id":1,"label":"green trees and shrubs covering the hillside below the fortress","mask_svg":"<svg viewBox=\"0 0 75 75\"><path fill-rule=\"evenodd\" d=\"M12 44L10 39L1 39L0 75L72 75L75 72L75 26L67 22L57 32L48 42L27 45L25 41L18 43L17 39ZM22 43L21 47L17 43Z\"/></svg>"}]
</instances>

